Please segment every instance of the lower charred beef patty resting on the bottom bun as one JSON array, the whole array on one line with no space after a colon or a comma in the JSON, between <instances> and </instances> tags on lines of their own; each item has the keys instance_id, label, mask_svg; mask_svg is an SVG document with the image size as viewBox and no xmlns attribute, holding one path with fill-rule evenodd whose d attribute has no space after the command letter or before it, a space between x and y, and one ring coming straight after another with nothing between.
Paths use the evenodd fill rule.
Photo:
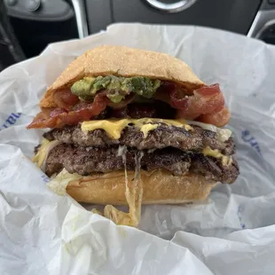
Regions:
<instances>
[{"instance_id":1,"label":"lower charred beef patty resting on the bottom bun","mask_svg":"<svg viewBox=\"0 0 275 275\"><path fill-rule=\"evenodd\" d=\"M129 148L126 153L128 170L135 169L135 155L138 150ZM187 172L201 174L208 179L231 184L239 175L236 161L228 166L221 159L206 157L202 153L186 153L175 148L164 148L153 152L144 151L140 161L141 169L167 169L180 176ZM97 148L61 144L54 147L46 161L46 174L51 176L61 169L69 173L88 176L93 172L110 172L124 169L118 146Z\"/></svg>"}]
</instances>

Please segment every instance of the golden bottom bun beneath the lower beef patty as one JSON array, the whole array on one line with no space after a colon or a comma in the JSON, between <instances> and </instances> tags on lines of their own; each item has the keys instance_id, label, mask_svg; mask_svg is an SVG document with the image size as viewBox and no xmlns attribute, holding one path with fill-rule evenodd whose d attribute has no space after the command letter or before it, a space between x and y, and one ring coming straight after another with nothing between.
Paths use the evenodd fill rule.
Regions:
<instances>
[{"instance_id":1,"label":"golden bottom bun beneath the lower beef patty","mask_svg":"<svg viewBox=\"0 0 275 275\"><path fill-rule=\"evenodd\" d=\"M135 177L128 171L128 180ZM179 204L205 200L216 185L200 175L173 176L165 170L140 171L143 183L142 204ZM128 205L125 198L124 171L82 177L69 182L67 193L79 202Z\"/></svg>"}]
</instances>

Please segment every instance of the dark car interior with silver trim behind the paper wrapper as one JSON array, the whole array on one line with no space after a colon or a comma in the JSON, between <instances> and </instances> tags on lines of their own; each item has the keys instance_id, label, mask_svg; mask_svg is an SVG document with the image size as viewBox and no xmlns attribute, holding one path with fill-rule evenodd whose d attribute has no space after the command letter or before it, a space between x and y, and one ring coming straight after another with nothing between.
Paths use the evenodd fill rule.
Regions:
<instances>
[{"instance_id":1,"label":"dark car interior with silver trim behind the paper wrapper","mask_svg":"<svg viewBox=\"0 0 275 275\"><path fill-rule=\"evenodd\" d=\"M275 44L275 0L2 0L0 71L117 22L215 27Z\"/></svg>"}]
</instances>

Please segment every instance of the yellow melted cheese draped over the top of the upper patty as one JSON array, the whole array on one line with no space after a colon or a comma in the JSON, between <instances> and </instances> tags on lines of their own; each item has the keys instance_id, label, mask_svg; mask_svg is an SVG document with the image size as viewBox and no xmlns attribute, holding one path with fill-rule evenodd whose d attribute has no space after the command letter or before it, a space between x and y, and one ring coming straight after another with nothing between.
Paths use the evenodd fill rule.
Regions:
<instances>
[{"instance_id":1,"label":"yellow melted cheese draped over the top of the upper patty","mask_svg":"<svg viewBox=\"0 0 275 275\"><path fill-rule=\"evenodd\" d=\"M119 139L121 138L122 130L129 124L134 124L143 132L144 138L146 138L148 132L156 129L161 125L160 123L183 127L185 130L193 129L190 125L186 124L184 120L162 120L153 118L90 121L83 122L81 128L83 131L102 129L106 131L110 138Z\"/></svg>"}]
</instances>

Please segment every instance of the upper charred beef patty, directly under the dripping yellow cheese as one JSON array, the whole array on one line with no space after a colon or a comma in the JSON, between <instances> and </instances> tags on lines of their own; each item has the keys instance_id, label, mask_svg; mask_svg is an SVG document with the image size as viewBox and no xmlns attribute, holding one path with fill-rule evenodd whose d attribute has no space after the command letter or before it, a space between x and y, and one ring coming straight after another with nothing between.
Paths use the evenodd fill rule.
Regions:
<instances>
[{"instance_id":1,"label":"upper charred beef patty, directly under the dripping yellow cheese","mask_svg":"<svg viewBox=\"0 0 275 275\"><path fill-rule=\"evenodd\" d=\"M192 125L193 130L185 130L176 126L161 124L155 130L151 130L144 138L143 133L135 126L128 126L122 131L120 139L109 138L105 130L92 130L83 132L80 126L68 126L63 129L53 129L43 134L49 140L59 140L62 143L105 147L106 145L126 145L127 147L145 149L161 149L174 147L185 151L200 152L209 146L218 149L221 153L231 155L235 152L232 138L222 142L218 140L216 132L204 130Z\"/></svg>"}]
</instances>

